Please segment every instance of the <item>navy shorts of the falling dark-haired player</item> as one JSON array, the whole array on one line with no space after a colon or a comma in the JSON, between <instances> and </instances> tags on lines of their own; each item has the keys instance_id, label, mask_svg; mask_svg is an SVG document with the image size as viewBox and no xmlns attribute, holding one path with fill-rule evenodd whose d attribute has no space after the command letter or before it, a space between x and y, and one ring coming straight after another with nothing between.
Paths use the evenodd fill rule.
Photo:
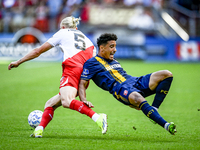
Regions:
<instances>
[{"instance_id":1,"label":"navy shorts of the falling dark-haired player","mask_svg":"<svg viewBox=\"0 0 200 150\"><path fill-rule=\"evenodd\" d=\"M138 92L143 97L155 94L155 91L149 89L149 80L151 74L147 74L140 77L131 77L122 84L119 84L116 90L112 93L113 96L125 105L131 105L128 100L129 95L132 92Z\"/></svg>"}]
</instances>

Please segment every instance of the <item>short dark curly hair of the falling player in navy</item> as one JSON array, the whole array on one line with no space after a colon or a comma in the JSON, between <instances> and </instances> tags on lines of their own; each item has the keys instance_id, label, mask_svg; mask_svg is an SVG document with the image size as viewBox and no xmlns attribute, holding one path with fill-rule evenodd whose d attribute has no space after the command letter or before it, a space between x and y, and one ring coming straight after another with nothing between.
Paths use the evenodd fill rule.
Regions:
<instances>
[{"instance_id":1,"label":"short dark curly hair of the falling player in navy","mask_svg":"<svg viewBox=\"0 0 200 150\"><path fill-rule=\"evenodd\" d=\"M108 41L111 40L117 41L117 39L118 39L117 35L113 33L104 33L97 39L97 45L99 47L100 45L107 44Z\"/></svg>"}]
</instances>

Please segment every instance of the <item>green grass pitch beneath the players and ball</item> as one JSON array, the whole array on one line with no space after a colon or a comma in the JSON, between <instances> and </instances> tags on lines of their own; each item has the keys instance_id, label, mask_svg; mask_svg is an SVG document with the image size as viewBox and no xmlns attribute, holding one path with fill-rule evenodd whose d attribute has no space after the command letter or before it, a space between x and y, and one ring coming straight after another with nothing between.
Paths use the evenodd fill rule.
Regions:
<instances>
[{"instance_id":1,"label":"green grass pitch beneath the players and ball","mask_svg":"<svg viewBox=\"0 0 200 150\"><path fill-rule=\"evenodd\" d=\"M28 115L33 110L43 111L45 102L59 92L61 63L31 61L8 71L7 62L0 63L0 149L200 149L200 63L119 62L133 76L164 69L173 73L171 89L159 113L177 125L176 135L152 124L141 111L121 104L91 82L87 99L95 106L94 111L108 115L107 134L102 135L89 117L60 107L43 138L30 138L33 130ZM151 104L153 96L147 101Z\"/></svg>"}]
</instances>

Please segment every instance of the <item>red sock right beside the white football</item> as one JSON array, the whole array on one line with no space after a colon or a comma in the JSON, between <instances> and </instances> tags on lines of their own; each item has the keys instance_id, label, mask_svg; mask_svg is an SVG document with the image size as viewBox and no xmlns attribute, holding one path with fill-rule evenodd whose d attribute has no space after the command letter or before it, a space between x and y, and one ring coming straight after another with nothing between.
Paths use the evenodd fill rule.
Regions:
<instances>
[{"instance_id":1,"label":"red sock right beside the white football","mask_svg":"<svg viewBox=\"0 0 200 150\"><path fill-rule=\"evenodd\" d=\"M39 126L43 126L45 128L49 122L53 119L54 109L53 107L47 107L42 115L42 120L39 124Z\"/></svg>"}]
</instances>

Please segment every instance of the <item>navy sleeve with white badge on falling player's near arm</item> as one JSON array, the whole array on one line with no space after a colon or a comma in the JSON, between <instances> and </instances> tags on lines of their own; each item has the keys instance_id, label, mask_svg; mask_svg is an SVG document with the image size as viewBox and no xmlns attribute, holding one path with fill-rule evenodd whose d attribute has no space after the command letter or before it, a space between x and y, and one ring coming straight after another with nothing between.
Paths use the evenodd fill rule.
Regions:
<instances>
[{"instance_id":1,"label":"navy sleeve with white badge on falling player's near arm","mask_svg":"<svg viewBox=\"0 0 200 150\"><path fill-rule=\"evenodd\" d=\"M88 60L83 65L83 72L81 74L82 80L90 80L96 73L95 65L91 60Z\"/></svg>"}]
</instances>

